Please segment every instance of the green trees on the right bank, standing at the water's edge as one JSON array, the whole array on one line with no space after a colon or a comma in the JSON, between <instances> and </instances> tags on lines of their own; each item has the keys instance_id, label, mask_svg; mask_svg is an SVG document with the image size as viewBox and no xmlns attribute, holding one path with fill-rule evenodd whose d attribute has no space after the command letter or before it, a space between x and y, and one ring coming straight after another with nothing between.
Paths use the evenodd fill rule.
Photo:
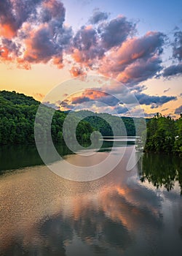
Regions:
<instances>
[{"instance_id":1,"label":"green trees on the right bank, standing at the water's edge","mask_svg":"<svg viewBox=\"0 0 182 256\"><path fill-rule=\"evenodd\" d=\"M157 113L147 123L146 152L182 155L182 115L178 120Z\"/></svg>"}]
</instances>

